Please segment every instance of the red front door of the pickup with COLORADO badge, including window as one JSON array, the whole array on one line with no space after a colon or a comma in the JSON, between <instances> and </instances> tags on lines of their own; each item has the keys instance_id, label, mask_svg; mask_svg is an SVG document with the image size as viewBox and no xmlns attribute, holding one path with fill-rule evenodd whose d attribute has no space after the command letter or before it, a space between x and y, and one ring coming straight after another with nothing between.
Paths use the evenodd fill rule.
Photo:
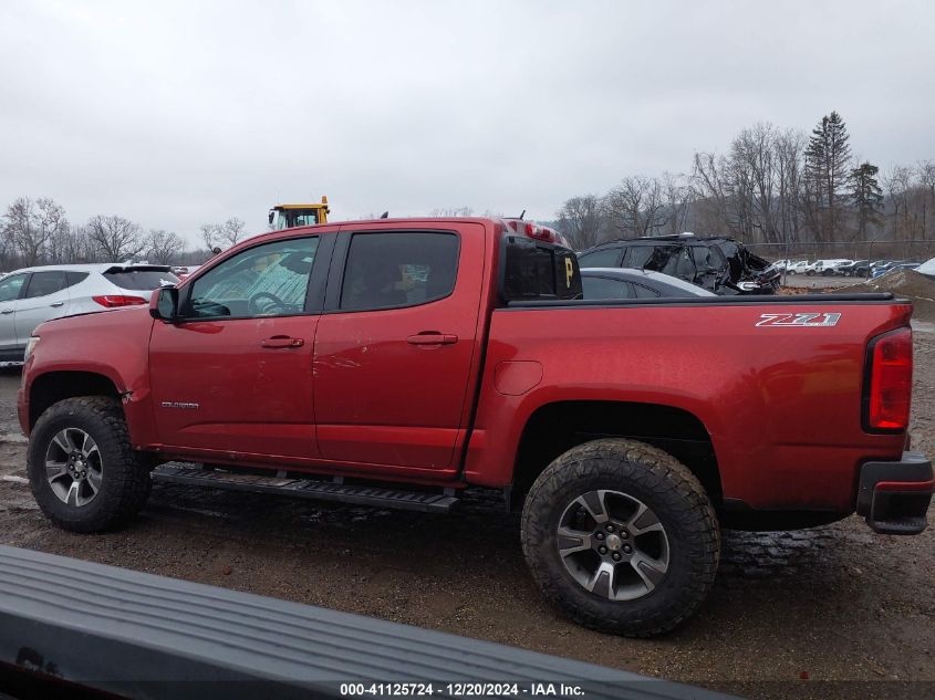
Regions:
<instances>
[{"instance_id":1,"label":"red front door of the pickup with COLORADO badge, including window","mask_svg":"<svg viewBox=\"0 0 935 700\"><path fill-rule=\"evenodd\" d=\"M149 369L159 441L209 459L313 459L312 349L331 239L254 245L180 290L156 321Z\"/></svg>"}]
</instances>

